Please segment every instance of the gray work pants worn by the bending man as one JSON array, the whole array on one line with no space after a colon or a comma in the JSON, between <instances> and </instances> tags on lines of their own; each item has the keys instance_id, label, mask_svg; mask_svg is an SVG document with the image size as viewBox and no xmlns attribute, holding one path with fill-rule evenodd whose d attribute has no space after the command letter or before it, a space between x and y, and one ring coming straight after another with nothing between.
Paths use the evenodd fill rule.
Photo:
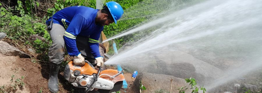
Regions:
<instances>
[{"instance_id":1,"label":"gray work pants worn by the bending man","mask_svg":"<svg viewBox=\"0 0 262 93\"><path fill-rule=\"evenodd\" d=\"M48 56L49 61L59 65L65 57L65 42L63 35L65 33L65 28L60 24L53 24L52 30L48 31L51 39L52 45L49 48ZM88 37L76 37L77 49L81 52L81 55L92 64L95 62L95 58L91 54L91 49L88 44Z\"/></svg>"}]
</instances>

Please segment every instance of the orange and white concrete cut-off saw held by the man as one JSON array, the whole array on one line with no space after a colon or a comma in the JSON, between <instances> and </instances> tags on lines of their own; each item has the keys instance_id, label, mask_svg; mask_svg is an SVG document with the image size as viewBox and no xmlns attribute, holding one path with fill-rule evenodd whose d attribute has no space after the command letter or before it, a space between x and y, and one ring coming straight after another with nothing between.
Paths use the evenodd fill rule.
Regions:
<instances>
[{"instance_id":1,"label":"orange and white concrete cut-off saw held by the man","mask_svg":"<svg viewBox=\"0 0 262 93\"><path fill-rule=\"evenodd\" d=\"M114 69L101 71L101 67L96 70L88 61L85 61L84 66L74 65L73 61L70 61L65 66L64 78L75 87L85 88L86 93L112 93L119 91L123 85L125 78L122 72Z\"/></svg>"}]
</instances>

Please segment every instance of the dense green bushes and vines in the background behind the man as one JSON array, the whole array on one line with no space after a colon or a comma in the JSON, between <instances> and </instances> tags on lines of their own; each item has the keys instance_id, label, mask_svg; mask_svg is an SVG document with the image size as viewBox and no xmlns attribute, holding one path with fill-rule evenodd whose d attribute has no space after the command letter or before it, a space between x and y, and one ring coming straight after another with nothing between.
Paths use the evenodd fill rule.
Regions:
<instances>
[{"instance_id":1,"label":"dense green bushes and vines in the background behind the man","mask_svg":"<svg viewBox=\"0 0 262 93\"><path fill-rule=\"evenodd\" d=\"M116 1L121 4L125 13L117 24L105 26L103 32L109 38L130 27L147 22L154 15L163 12L170 6L165 6L171 0L105 0ZM8 3L12 3L11 5ZM177 3L183 3L182 0ZM47 53L49 46L52 44L49 33L46 30L45 21L52 15L68 6L88 6L96 7L96 0L18 0L17 2L0 2L0 32L6 33L7 39L4 41L12 44L18 49L29 53L27 49L31 48L38 55L33 56L33 60L48 61ZM105 3L104 3L105 5ZM156 7L163 6L163 7ZM176 6L177 7L177 6ZM142 15L142 17L141 17ZM138 17L138 18L134 18ZM156 29L150 28L145 33ZM127 42L134 42L135 39L141 38L141 33L133 33L124 37L114 39L118 49ZM111 41L109 41L111 43ZM109 48L109 54L113 54L113 49ZM35 61L34 61L35 62Z\"/></svg>"}]
</instances>

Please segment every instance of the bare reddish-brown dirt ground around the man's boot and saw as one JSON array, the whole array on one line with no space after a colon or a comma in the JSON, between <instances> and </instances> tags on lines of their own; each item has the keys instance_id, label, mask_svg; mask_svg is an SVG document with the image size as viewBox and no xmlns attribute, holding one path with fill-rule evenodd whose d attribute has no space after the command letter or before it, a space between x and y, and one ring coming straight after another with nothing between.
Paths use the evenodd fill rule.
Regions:
<instances>
[{"instance_id":1,"label":"bare reddish-brown dirt ground around the man's boot and saw","mask_svg":"<svg viewBox=\"0 0 262 93\"><path fill-rule=\"evenodd\" d=\"M40 65L38 63L33 63L31 59L19 58L16 56L2 56L0 55L0 85L10 84L11 76L14 75L15 78L21 78L24 76L23 82L25 86L20 88L14 93L50 93L47 87L49 67L46 65ZM47 63L48 64L48 63ZM63 67L60 68L60 70ZM126 81L128 83L128 89L121 89L121 93L138 93L134 92L132 87L134 79L131 79L132 74L124 74ZM73 87L71 84L63 78L63 71L59 71L59 93L83 93L84 90L81 88ZM99 92L90 92L99 93Z\"/></svg>"}]
</instances>

